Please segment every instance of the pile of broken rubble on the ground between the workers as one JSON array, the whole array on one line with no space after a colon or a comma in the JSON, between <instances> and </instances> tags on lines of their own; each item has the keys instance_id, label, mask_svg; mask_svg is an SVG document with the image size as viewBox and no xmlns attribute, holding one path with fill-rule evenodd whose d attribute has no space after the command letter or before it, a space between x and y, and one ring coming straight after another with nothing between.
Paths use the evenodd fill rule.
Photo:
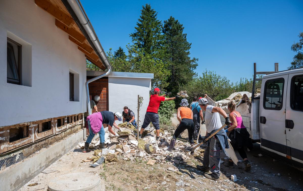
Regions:
<instances>
[{"instance_id":1,"label":"pile of broken rubble on the ground between the workers","mask_svg":"<svg viewBox=\"0 0 303 191\"><path fill-rule=\"evenodd\" d=\"M172 135L168 131L160 130L160 138L156 140L156 133L154 127L151 127L148 131L144 131L142 138L139 141L136 138L137 129L131 126L125 127L125 123L119 125L122 132L118 132L119 137L116 138L107 131L105 128L105 143L107 145L111 144L111 141L116 144L112 144L105 149L99 150L99 136L95 137L95 140L90 144L90 149L94 151L93 157L88 157L83 162L93 162L92 166L98 166L99 163L108 163L118 160L131 160L131 161L145 161L147 165L154 165L154 163L171 163L180 164L186 161L190 155L190 152L184 151L184 149L190 147L188 142L183 142L177 139L175 143L175 149L173 151L168 151L169 143L171 141ZM117 144L118 142L118 144ZM84 143L80 143L78 147L83 148ZM198 151L195 151L198 153ZM95 165L94 165L95 164ZM168 168L170 171L179 173L178 169L173 167Z\"/></svg>"}]
</instances>

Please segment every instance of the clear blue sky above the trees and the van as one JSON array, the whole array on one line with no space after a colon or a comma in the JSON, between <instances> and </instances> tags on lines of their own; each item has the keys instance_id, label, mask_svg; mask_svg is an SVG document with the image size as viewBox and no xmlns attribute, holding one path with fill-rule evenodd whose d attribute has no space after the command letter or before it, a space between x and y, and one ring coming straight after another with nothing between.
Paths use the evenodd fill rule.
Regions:
<instances>
[{"instance_id":1,"label":"clear blue sky above the trees and the van","mask_svg":"<svg viewBox=\"0 0 303 191\"><path fill-rule=\"evenodd\" d=\"M303 1L83 1L99 40L108 51L125 49L140 16L151 4L162 22L175 17L185 27L191 57L199 59L196 72L205 69L232 82L258 71L286 70L294 52L291 45L303 32Z\"/></svg>"}]
</instances>

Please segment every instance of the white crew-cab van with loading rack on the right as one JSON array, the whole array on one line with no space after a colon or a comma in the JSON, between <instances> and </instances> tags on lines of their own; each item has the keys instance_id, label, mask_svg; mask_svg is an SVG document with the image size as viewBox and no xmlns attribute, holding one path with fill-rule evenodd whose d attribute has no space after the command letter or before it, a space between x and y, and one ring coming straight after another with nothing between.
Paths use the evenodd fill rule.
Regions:
<instances>
[{"instance_id":1,"label":"white crew-cab van with loading rack on the right","mask_svg":"<svg viewBox=\"0 0 303 191\"><path fill-rule=\"evenodd\" d=\"M303 68L277 70L275 63L274 72L256 72L254 63L251 107L248 113L236 110L262 152L303 169ZM266 75L257 79L261 74Z\"/></svg>"}]
</instances>

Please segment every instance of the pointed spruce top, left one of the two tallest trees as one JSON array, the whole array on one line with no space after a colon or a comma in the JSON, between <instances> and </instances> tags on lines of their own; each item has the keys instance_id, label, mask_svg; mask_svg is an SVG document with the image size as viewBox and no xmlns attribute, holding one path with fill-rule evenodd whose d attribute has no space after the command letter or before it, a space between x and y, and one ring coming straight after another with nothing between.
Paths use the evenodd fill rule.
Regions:
<instances>
[{"instance_id":1,"label":"pointed spruce top, left one of the two tallest trees","mask_svg":"<svg viewBox=\"0 0 303 191\"><path fill-rule=\"evenodd\" d=\"M142 6L135 32L129 35L135 47L142 50L144 55L150 54L153 57L158 57L156 55L163 45L162 24L157 19L157 14L150 4Z\"/></svg>"}]
</instances>

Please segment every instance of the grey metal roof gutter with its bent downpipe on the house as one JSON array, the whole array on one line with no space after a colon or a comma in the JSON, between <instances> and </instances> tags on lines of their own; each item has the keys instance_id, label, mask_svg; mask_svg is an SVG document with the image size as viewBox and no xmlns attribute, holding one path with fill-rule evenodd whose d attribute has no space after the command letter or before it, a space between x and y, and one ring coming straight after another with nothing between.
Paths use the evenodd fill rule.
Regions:
<instances>
[{"instance_id":1,"label":"grey metal roof gutter with its bent downpipe on the house","mask_svg":"<svg viewBox=\"0 0 303 191\"><path fill-rule=\"evenodd\" d=\"M91 105L89 100L89 89L88 89L88 83L91 83L97 79L100 79L104 76L107 76L112 71L112 65L109 63L108 58L105 54L104 49L102 48L102 45L100 44L100 41L95 33L94 28L92 27L91 22L89 21L84 8L82 7L82 4L79 0L61 0L64 4L65 8L68 10L72 18L75 20L76 24L80 28L81 32L85 36L85 38L88 40L89 44L92 46L92 48L95 50L95 52L98 52L98 57L102 61L102 63L105 64L105 67L107 68L107 72L97 76L95 78L89 79L85 82L86 87L86 102L87 102L87 110L88 115L91 115Z\"/></svg>"}]
</instances>

